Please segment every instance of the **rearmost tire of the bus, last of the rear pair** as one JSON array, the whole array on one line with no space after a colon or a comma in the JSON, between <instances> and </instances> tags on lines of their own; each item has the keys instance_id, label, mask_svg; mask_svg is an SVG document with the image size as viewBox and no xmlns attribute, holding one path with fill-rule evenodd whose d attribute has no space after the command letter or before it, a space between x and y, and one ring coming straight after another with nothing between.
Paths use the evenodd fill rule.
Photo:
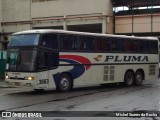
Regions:
<instances>
[{"instance_id":1,"label":"rearmost tire of the bus, last of the rear pair","mask_svg":"<svg viewBox=\"0 0 160 120\"><path fill-rule=\"evenodd\" d=\"M135 85L136 86L141 86L142 85L142 81L144 79L144 75L141 71L137 71L135 74Z\"/></svg>"}]
</instances>

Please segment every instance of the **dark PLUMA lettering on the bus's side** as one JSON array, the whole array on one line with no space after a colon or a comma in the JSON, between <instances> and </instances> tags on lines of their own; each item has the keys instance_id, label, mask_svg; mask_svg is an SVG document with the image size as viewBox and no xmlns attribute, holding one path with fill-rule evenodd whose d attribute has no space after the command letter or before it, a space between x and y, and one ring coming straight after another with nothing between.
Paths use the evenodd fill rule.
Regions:
<instances>
[{"instance_id":1,"label":"dark PLUMA lettering on the bus's side","mask_svg":"<svg viewBox=\"0 0 160 120\"><path fill-rule=\"evenodd\" d=\"M106 56L105 62L147 62L149 61L148 56Z\"/></svg>"}]
</instances>

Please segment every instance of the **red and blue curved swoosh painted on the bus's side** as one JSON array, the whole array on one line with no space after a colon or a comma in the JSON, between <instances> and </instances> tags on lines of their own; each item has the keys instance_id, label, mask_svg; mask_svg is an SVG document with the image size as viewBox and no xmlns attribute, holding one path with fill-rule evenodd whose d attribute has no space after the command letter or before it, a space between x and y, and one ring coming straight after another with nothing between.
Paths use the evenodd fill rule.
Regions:
<instances>
[{"instance_id":1,"label":"red and blue curved swoosh painted on the bus's side","mask_svg":"<svg viewBox=\"0 0 160 120\"><path fill-rule=\"evenodd\" d=\"M91 61L83 56L79 55L60 55L59 56L60 62L66 62L69 64L62 64L62 66L73 66L71 70L63 71L69 72L73 79L79 78L81 75L85 73L86 70L89 70L91 67ZM53 78L56 81L58 80L60 73L54 74Z\"/></svg>"}]
</instances>

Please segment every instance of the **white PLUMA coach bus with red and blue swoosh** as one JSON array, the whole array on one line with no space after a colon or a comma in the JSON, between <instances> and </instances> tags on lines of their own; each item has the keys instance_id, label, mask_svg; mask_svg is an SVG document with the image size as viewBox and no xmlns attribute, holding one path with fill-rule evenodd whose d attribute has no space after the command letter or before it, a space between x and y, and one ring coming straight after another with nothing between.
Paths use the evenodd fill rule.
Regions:
<instances>
[{"instance_id":1,"label":"white PLUMA coach bus with red and blue swoosh","mask_svg":"<svg viewBox=\"0 0 160 120\"><path fill-rule=\"evenodd\" d=\"M5 81L61 92L107 83L139 86L158 77L158 63L158 38L29 30L12 35Z\"/></svg>"}]
</instances>

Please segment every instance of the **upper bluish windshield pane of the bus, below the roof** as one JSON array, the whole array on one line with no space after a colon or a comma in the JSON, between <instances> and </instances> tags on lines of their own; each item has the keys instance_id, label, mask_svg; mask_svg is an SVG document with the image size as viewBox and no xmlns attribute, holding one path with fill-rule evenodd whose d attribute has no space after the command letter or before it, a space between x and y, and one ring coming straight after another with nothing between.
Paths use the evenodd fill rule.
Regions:
<instances>
[{"instance_id":1,"label":"upper bluish windshield pane of the bus, below the roof","mask_svg":"<svg viewBox=\"0 0 160 120\"><path fill-rule=\"evenodd\" d=\"M14 46L36 46L39 42L40 34L13 35L9 47Z\"/></svg>"}]
</instances>

